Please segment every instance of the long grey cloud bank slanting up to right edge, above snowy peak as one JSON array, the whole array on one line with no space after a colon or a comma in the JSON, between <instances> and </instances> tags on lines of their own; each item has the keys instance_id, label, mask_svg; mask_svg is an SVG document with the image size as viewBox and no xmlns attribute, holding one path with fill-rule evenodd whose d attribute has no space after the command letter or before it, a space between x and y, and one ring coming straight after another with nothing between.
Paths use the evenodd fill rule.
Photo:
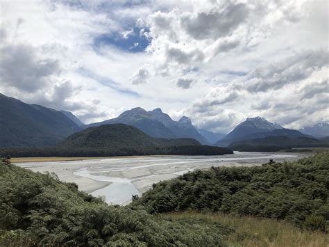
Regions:
<instances>
[{"instance_id":1,"label":"long grey cloud bank slanting up to right edge, above snowy peak","mask_svg":"<svg viewBox=\"0 0 329 247\"><path fill-rule=\"evenodd\" d=\"M306 79L313 72L328 65L328 56L326 49L310 50L291 56L281 63L258 67L248 74L246 90L264 92Z\"/></svg>"}]
</instances>

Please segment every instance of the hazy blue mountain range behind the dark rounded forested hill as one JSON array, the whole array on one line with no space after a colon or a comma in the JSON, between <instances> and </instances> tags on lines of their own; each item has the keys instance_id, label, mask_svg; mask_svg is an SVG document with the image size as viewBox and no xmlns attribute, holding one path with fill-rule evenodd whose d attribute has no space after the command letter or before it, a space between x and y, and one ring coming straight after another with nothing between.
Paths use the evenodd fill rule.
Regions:
<instances>
[{"instance_id":1,"label":"hazy blue mountain range behind the dark rounded forested hill","mask_svg":"<svg viewBox=\"0 0 329 247\"><path fill-rule=\"evenodd\" d=\"M26 104L0 94L0 147L45 147L57 145L70 134L101 125L123 123L155 138L193 138L203 145L227 147L238 141L287 136L289 138L323 138L329 136L329 123L322 122L303 129L285 129L268 120L247 118L230 133L221 134L197 129L183 116L171 119L160 108L146 111L140 107L124 111L117 118L84 125L69 111L57 111L37 104ZM267 138L269 140L269 138Z\"/></svg>"}]
</instances>

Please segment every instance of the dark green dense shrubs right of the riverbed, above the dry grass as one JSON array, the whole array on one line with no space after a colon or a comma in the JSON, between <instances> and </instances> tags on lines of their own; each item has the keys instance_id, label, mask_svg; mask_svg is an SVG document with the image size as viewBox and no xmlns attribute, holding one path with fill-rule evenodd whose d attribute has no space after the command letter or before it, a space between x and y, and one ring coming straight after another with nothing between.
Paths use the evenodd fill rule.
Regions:
<instances>
[{"instance_id":1,"label":"dark green dense shrubs right of the riverbed, above the dry grass","mask_svg":"<svg viewBox=\"0 0 329 247\"><path fill-rule=\"evenodd\" d=\"M133 205L148 212L206 210L284 219L325 230L329 152L289 163L211 168L153 185Z\"/></svg>"}]
</instances>

